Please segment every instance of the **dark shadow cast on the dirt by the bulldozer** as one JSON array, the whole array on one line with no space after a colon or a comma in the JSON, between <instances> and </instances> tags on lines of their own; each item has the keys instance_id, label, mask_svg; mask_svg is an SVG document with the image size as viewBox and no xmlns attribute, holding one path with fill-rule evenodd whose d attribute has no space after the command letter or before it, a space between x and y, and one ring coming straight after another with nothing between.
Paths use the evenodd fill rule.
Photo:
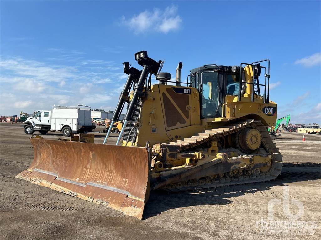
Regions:
<instances>
[{"instance_id":1,"label":"dark shadow cast on the dirt by the bulldozer","mask_svg":"<svg viewBox=\"0 0 321 240\"><path fill-rule=\"evenodd\" d=\"M312 164L312 163L310 163ZM287 164L288 165L288 164ZM313 166L315 164L312 164ZM316 164L320 165L320 164ZM307 163L295 164L295 166L311 166ZM288 186L291 182L320 179L320 171L317 172L282 172L274 181L248 183L228 187L211 188L190 192L167 192L165 190L152 191L148 204L144 210L144 219L156 216L170 209L177 209L197 205L226 205L233 201L229 198L242 196L247 193L269 190L274 186Z\"/></svg>"}]
</instances>

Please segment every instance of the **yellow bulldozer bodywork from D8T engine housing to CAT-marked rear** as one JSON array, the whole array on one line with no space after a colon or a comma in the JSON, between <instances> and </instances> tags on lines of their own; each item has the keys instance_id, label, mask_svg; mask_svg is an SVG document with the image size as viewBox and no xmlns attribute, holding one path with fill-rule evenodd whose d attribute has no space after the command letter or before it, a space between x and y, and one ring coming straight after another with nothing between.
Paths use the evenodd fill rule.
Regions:
<instances>
[{"instance_id":1,"label":"yellow bulldozer bodywork from D8T engine housing to CAT-marked rear","mask_svg":"<svg viewBox=\"0 0 321 240\"><path fill-rule=\"evenodd\" d=\"M247 79L251 78L251 75L247 76ZM190 94L176 93L173 88L187 89ZM201 119L199 98L199 92L193 87L152 85L151 91L148 91L143 99L134 146L145 146L147 141L154 145L182 140L195 132L228 125L242 118L259 120L265 126L273 126L276 121L276 110L271 114L264 111L269 108L276 109L276 103L271 100L264 103L263 98L257 95L251 102L249 93L245 93L240 101L238 96L227 95L222 105L223 117ZM126 146L125 139L122 145ZM127 146L130 146L128 142Z\"/></svg>"}]
</instances>

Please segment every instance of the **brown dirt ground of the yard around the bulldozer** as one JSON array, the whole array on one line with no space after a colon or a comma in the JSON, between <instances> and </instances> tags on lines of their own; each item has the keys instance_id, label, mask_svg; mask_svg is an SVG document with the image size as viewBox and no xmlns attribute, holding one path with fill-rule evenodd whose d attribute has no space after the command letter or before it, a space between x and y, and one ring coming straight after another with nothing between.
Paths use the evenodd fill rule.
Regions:
<instances>
[{"instance_id":1,"label":"brown dirt ground of the yard around the bulldozer","mask_svg":"<svg viewBox=\"0 0 321 240\"><path fill-rule=\"evenodd\" d=\"M96 143L104 138L100 130ZM14 178L33 160L30 135L19 124L1 123L1 239L320 239L321 136L306 134L304 142L302 134L281 134L275 143L284 166L275 181L152 192L140 221ZM113 134L108 143L116 139ZM271 205L275 225L266 221Z\"/></svg>"}]
</instances>

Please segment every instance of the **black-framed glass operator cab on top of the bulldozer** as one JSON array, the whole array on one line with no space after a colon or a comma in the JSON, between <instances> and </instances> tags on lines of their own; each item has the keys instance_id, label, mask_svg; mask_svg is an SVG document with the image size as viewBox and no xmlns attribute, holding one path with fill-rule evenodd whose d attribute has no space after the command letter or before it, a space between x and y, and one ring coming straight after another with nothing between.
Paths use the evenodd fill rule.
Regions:
<instances>
[{"instance_id":1,"label":"black-framed glass operator cab on top of the bulldozer","mask_svg":"<svg viewBox=\"0 0 321 240\"><path fill-rule=\"evenodd\" d=\"M231 66L204 65L190 70L190 86L200 92L201 118L221 117L225 96L238 96L239 73Z\"/></svg>"}]
</instances>

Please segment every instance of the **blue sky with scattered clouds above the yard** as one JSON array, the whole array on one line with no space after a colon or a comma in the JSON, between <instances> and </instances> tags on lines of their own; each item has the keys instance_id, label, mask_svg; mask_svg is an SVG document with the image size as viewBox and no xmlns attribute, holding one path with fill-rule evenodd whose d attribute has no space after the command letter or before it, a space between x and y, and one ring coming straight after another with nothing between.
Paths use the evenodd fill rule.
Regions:
<instances>
[{"instance_id":1,"label":"blue sky with scattered clouds above the yard","mask_svg":"<svg viewBox=\"0 0 321 240\"><path fill-rule=\"evenodd\" d=\"M0 114L86 104L114 110L122 62L147 50L182 77L271 60L278 117L321 124L320 1L1 1Z\"/></svg>"}]
</instances>

